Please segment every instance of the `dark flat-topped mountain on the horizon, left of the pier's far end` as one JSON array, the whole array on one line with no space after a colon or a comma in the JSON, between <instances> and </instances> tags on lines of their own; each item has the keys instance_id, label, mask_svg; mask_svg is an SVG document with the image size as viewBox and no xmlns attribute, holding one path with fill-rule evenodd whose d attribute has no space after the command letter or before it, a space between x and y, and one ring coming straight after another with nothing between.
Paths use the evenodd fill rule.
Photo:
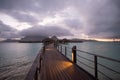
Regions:
<instances>
[{"instance_id":1,"label":"dark flat-topped mountain on the horizon, left of the pier's far end","mask_svg":"<svg viewBox=\"0 0 120 80\"><path fill-rule=\"evenodd\" d=\"M26 36L24 38L21 38L19 42L42 42L43 39L47 37L45 36Z\"/></svg>"}]
</instances>

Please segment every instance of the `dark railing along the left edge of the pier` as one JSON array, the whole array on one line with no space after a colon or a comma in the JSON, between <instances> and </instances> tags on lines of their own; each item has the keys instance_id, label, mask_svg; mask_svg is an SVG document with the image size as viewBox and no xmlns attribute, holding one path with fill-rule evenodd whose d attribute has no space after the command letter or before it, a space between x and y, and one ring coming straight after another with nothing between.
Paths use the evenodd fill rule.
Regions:
<instances>
[{"instance_id":1,"label":"dark railing along the left edge of the pier","mask_svg":"<svg viewBox=\"0 0 120 80\"><path fill-rule=\"evenodd\" d=\"M41 70L41 65L42 65L42 55L45 51L45 46L40 50L38 55L36 56L28 74L26 75L25 80L39 80L39 74Z\"/></svg>"}]
</instances>

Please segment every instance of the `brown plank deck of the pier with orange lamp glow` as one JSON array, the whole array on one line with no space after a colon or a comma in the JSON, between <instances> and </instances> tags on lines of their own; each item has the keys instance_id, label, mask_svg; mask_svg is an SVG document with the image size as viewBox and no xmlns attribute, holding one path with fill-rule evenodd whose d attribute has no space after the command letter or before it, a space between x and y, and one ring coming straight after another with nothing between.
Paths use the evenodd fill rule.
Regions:
<instances>
[{"instance_id":1,"label":"brown plank deck of the pier with orange lamp glow","mask_svg":"<svg viewBox=\"0 0 120 80\"><path fill-rule=\"evenodd\" d=\"M46 47L39 80L95 80L60 54L53 45Z\"/></svg>"}]
</instances>

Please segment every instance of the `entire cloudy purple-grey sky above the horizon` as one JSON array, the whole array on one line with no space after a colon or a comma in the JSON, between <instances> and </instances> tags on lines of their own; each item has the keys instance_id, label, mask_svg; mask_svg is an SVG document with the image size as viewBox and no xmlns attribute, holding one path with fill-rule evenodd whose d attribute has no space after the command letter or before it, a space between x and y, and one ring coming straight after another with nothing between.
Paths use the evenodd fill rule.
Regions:
<instances>
[{"instance_id":1,"label":"entire cloudy purple-grey sky above the horizon","mask_svg":"<svg viewBox=\"0 0 120 80\"><path fill-rule=\"evenodd\" d=\"M120 0L0 0L0 38L120 38Z\"/></svg>"}]
</instances>

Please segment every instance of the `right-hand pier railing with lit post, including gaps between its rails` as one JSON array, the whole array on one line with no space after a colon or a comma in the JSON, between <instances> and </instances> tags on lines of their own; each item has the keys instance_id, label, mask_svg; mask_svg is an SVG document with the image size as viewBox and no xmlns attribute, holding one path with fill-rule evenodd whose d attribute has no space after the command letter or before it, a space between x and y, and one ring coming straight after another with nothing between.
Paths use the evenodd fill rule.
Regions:
<instances>
[{"instance_id":1,"label":"right-hand pier railing with lit post, including gaps between its rails","mask_svg":"<svg viewBox=\"0 0 120 80\"><path fill-rule=\"evenodd\" d=\"M96 80L120 80L120 60L79 50L76 46L58 45L57 49Z\"/></svg>"}]
</instances>

